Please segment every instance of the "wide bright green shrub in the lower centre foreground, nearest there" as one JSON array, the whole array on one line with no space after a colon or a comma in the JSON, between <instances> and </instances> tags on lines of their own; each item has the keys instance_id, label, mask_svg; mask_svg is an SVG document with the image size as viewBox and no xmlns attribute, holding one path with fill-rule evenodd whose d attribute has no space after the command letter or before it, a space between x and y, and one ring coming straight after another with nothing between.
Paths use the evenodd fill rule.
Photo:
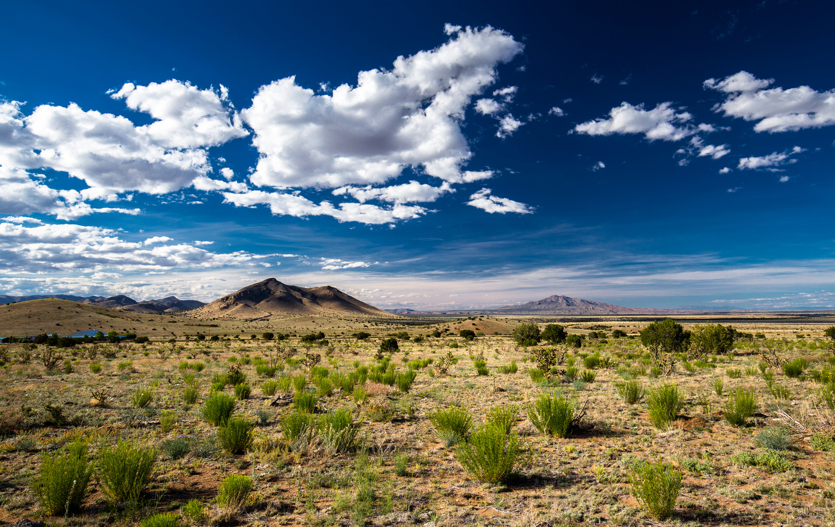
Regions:
<instances>
[{"instance_id":1,"label":"wide bright green shrub in the lower centre foreground, nearest there","mask_svg":"<svg viewBox=\"0 0 835 527\"><path fill-rule=\"evenodd\" d=\"M514 469L519 454L519 440L515 434L492 424L484 424L470 434L469 441L459 443L455 458L463 469L484 483L506 481Z\"/></svg>"}]
</instances>

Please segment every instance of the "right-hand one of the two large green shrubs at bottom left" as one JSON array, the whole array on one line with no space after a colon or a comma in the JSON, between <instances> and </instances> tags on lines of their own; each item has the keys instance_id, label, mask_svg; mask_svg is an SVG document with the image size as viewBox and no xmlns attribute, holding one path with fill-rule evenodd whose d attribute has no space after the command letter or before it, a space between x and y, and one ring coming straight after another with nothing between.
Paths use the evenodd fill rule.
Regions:
<instances>
[{"instance_id":1,"label":"right-hand one of the two large green shrubs at bottom left","mask_svg":"<svg viewBox=\"0 0 835 527\"><path fill-rule=\"evenodd\" d=\"M117 503L137 502L154 469L156 450L119 440L99 450L99 486Z\"/></svg>"}]
</instances>

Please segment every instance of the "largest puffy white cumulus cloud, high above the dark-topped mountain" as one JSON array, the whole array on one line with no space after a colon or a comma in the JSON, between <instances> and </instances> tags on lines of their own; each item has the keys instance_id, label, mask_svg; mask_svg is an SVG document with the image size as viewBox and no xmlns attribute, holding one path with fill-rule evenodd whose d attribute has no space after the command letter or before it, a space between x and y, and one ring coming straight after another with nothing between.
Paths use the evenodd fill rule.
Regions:
<instances>
[{"instance_id":1,"label":"largest puffy white cumulus cloud, high above the dark-topped mountain","mask_svg":"<svg viewBox=\"0 0 835 527\"><path fill-rule=\"evenodd\" d=\"M407 166L450 183L471 157L458 121L495 82L498 63L522 44L503 31L447 26L447 43L391 70L360 72L357 85L314 94L294 77L261 87L242 110L261 159L253 183L279 189L378 185Z\"/></svg>"}]
</instances>

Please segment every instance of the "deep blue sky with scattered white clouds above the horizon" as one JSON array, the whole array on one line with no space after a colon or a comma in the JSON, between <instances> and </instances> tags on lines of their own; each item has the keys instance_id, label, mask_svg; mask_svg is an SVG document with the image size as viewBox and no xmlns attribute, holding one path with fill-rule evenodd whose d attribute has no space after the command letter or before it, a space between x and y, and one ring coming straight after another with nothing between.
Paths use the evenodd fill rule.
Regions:
<instances>
[{"instance_id":1,"label":"deep blue sky with scattered white clouds above the horizon","mask_svg":"<svg viewBox=\"0 0 835 527\"><path fill-rule=\"evenodd\" d=\"M0 292L832 307L833 10L5 2Z\"/></svg>"}]
</instances>

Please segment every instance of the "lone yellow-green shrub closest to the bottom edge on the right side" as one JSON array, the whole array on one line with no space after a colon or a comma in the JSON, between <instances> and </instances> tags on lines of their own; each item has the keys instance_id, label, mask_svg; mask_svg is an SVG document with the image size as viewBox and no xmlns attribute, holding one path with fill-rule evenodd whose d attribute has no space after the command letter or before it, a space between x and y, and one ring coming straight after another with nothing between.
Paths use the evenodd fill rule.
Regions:
<instances>
[{"instance_id":1,"label":"lone yellow-green shrub closest to the bottom edge on the right side","mask_svg":"<svg viewBox=\"0 0 835 527\"><path fill-rule=\"evenodd\" d=\"M630 469L632 495L655 519L667 519L681 494L681 472L671 464L639 462Z\"/></svg>"}]
</instances>

